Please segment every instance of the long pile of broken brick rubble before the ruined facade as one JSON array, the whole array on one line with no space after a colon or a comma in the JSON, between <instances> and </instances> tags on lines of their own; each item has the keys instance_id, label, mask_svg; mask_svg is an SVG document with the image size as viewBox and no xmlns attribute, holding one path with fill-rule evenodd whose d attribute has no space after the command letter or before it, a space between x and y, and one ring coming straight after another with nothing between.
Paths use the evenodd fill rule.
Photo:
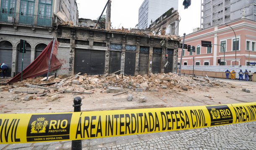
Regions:
<instances>
[{"instance_id":1,"label":"long pile of broken brick rubble before the ruined facade","mask_svg":"<svg viewBox=\"0 0 256 150\"><path fill-rule=\"evenodd\" d=\"M200 90L202 86L217 87L226 86L224 82L209 80L207 78L193 78L191 76L179 76L175 73L162 73L150 75L59 75L57 78L33 78L26 79L13 85L0 87L0 91L20 93L25 96L21 100L42 99L54 101L59 98L59 93L93 94L95 89L101 93L127 93L127 90L135 92L158 91L162 89L180 88L184 91ZM124 91L124 89L127 89ZM120 93L122 92L122 93ZM28 95L33 94L33 95ZM117 94L118 95L118 94ZM16 99L16 98L14 98Z\"/></svg>"}]
</instances>

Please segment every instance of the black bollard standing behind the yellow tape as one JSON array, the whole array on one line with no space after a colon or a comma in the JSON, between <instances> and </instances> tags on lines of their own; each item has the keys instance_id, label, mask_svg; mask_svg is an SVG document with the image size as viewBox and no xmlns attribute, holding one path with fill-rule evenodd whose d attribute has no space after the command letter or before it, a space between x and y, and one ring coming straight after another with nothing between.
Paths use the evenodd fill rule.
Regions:
<instances>
[{"instance_id":1,"label":"black bollard standing behind the yellow tape","mask_svg":"<svg viewBox=\"0 0 256 150\"><path fill-rule=\"evenodd\" d=\"M81 97L74 98L74 112L80 112L81 111L81 103L82 99ZM71 144L71 150L82 150L82 140L73 140Z\"/></svg>"}]
</instances>

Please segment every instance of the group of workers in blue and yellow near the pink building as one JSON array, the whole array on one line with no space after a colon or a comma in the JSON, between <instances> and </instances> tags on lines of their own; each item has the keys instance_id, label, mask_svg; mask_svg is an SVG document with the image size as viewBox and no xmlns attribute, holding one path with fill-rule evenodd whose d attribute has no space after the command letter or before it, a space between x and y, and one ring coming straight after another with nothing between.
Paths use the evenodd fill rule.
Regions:
<instances>
[{"instance_id":1,"label":"group of workers in blue and yellow near the pink building","mask_svg":"<svg viewBox=\"0 0 256 150\"><path fill-rule=\"evenodd\" d=\"M225 71L226 73L226 79L228 79L229 74L231 74L231 79L235 80L235 70L232 70L231 72L229 70ZM253 77L253 72L251 72L251 70L243 72L241 69L238 72L239 75L239 80L243 80L243 75L245 76L246 81L252 81L252 77Z\"/></svg>"}]
</instances>

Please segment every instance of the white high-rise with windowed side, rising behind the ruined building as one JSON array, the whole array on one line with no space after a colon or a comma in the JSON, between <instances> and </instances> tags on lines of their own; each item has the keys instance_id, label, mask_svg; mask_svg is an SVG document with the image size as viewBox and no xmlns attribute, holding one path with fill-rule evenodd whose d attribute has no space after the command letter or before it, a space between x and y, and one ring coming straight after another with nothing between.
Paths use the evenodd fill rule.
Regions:
<instances>
[{"instance_id":1,"label":"white high-rise with windowed side, rising behind the ruined building","mask_svg":"<svg viewBox=\"0 0 256 150\"><path fill-rule=\"evenodd\" d=\"M138 28L146 29L167 10L178 10L178 0L144 0L138 10Z\"/></svg>"}]
</instances>

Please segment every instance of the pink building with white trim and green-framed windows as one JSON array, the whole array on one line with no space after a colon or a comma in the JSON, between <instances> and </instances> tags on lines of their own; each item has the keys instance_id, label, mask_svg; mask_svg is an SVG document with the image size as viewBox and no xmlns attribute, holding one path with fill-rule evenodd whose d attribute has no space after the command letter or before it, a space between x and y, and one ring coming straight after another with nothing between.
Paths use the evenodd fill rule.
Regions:
<instances>
[{"instance_id":1,"label":"pink building with white trim and green-framed windows","mask_svg":"<svg viewBox=\"0 0 256 150\"><path fill-rule=\"evenodd\" d=\"M212 45L212 48L202 47L201 41L211 41L217 45ZM248 65L249 62L256 62L256 21L243 18L228 23L228 26L205 28L186 35L185 44L195 46L196 52L192 52L192 49L188 52L185 49L182 65L193 65L193 56L195 65L219 65L218 59L221 59L222 64L225 59L225 65ZM180 54L181 49L178 64Z\"/></svg>"}]
</instances>

